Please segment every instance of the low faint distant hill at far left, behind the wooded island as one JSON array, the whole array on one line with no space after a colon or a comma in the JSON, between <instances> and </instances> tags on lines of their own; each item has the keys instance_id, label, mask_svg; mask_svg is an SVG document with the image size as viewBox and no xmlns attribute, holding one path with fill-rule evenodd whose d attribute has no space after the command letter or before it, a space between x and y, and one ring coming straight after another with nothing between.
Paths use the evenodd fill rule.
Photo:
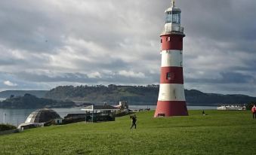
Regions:
<instances>
[{"instance_id":1,"label":"low faint distant hill at far left, behind the wooded island","mask_svg":"<svg viewBox=\"0 0 256 155\"><path fill-rule=\"evenodd\" d=\"M9 98L10 96L24 96L26 93L42 98L48 90L5 90L0 92L0 98Z\"/></svg>"}]
</instances>

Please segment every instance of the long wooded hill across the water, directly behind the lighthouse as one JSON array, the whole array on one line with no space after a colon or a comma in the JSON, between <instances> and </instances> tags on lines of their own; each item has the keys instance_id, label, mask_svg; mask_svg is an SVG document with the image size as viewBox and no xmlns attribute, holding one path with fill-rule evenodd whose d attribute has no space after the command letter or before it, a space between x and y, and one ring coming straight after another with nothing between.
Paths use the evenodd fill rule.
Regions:
<instances>
[{"instance_id":1,"label":"long wooded hill across the water, directly behind the lighthouse","mask_svg":"<svg viewBox=\"0 0 256 155\"><path fill-rule=\"evenodd\" d=\"M130 105L156 105L159 94L158 85L143 86L60 86L45 94L47 99L70 99L102 104L108 102L116 104L120 100L128 101ZM244 104L256 102L255 97L244 95L222 95L216 93L202 93L199 90L185 90L188 105L218 105Z\"/></svg>"}]
</instances>

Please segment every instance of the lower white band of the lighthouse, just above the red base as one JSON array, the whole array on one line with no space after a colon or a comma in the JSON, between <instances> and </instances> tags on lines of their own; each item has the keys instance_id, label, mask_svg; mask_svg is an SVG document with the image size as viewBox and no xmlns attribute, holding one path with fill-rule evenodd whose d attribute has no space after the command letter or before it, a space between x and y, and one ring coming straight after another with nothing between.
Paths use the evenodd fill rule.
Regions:
<instances>
[{"instance_id":1,"label":"lower white band of the lighthouse, just above the red base","mask_svg":"<svg viewBox=\"0 0 256 155\"><path fill-rule=\"evenodd\" d=\"M159 101L186 101L183 84L160 84Z\"/></svg>"}]
</instances>

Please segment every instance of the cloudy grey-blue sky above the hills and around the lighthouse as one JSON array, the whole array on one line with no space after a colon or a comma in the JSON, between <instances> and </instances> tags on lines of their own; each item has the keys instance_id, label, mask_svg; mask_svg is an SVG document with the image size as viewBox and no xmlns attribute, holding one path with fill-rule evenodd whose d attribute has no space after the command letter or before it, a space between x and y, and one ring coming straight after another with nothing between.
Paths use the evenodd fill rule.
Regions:
<instances>
[{"instance_id":1,"label":"cloudy grey-blue sky above the hills and around the lighthouse","mask_svg":"<svg viewBox=\"0 0 256 155\"><path fill-rule=\"evenodd\" d=\"M159 84L171 0L0 1L0 91ZM256 96L256 1L177 0L184 87Z\"/></svg>"}]
</instances>

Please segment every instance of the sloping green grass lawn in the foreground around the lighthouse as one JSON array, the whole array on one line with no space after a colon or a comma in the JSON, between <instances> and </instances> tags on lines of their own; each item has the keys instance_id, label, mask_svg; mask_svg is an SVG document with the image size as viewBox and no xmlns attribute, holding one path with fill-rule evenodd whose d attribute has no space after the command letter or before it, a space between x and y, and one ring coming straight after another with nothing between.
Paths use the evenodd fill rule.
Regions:
<instances>
[{"instance_id":1,"label":"sloping green grass lawn in the foreground around the lighthouse","mask_svg":"<svg viewBox=\"0 0 256 155\"><path fill-rule=\"evenodd\" d=\"M115 122L73 123L0 136L0 154L256 154L250 111L189 111L189 117L137 114Z\"/></svg>"}]
</instances>

